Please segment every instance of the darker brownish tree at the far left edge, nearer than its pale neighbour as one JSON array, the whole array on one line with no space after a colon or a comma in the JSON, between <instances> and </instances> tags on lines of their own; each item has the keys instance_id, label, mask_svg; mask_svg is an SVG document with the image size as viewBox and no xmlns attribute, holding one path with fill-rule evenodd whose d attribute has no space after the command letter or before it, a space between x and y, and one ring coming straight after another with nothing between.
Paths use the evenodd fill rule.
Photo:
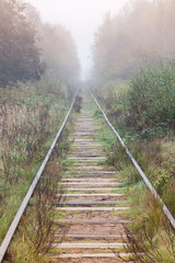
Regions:
<instances>
[{"instance_id":1,"label":"darker brownish tree at the far left edge, nearer than its pale neighbour","mask_svg":"<svg viewBox=\"0 0 175 263\"><path fill-rule=\"evenodd\" d=\"M35 31L24 15L25 5L0 0L0 82L39 79L44 72L35 45Z\"/></svg>"}]
</instances>

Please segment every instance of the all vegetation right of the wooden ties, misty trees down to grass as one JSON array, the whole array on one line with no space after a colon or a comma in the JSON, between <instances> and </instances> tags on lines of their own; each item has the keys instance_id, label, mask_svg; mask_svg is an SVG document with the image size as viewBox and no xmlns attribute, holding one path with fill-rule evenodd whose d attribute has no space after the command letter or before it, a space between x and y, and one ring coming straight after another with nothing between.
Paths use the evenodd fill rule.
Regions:
<instances>
[{"instance_id":1,"label":"all vegetation right of the wooden ties, misty trees down to grass","mask_svg":"<svg viewBox=\"0 0 175 263\"><path fill-rule=\"evenodd\" d=\"M175 45L167 30L173 10L172 0L135 0L120 14L106 16L94 45L94 93L175 217ZM173 263L175 235L162 205L119 142L112 142L107 157L132 205L128 262Z\"/></svg>"}]
</instances>

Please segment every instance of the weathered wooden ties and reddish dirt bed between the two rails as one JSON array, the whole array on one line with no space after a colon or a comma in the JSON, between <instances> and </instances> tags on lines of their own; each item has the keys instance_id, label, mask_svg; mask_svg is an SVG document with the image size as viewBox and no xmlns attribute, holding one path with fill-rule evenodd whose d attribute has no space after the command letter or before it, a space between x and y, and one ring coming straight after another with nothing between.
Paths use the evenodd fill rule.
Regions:
<instances>
[{"instance_id":1,"label":"weathered wooden ties and reddish dirt bed between the two rails","mask_svg":"<svg viewBox=\"0 0 175 263\"><path fill-rule=\"evenodd\" d=\"M105 146L96 139L103 127L88 104L83 102L70 137L70 167L61 183L66 192L57 206L65 219L56 219L69 231L61 244L52 244L52 263L120 263L116 253L127 256L121 239L122 224L129 222L125 216L129 209L125 188L120 187L115 169L105 165ZM60 238L59 231L56 235Z\"/></svg>"}]
</instances>

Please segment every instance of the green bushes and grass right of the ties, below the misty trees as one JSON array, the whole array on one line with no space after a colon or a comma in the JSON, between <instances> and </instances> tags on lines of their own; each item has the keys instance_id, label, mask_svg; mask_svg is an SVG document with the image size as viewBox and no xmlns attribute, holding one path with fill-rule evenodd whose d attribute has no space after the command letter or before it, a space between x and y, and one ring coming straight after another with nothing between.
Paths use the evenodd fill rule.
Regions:
<instances>
[{"instance_id":1,"label":"green bushes and grass right of the ties, below the misty trees","mask_svg":"<svg viewBox=\"0 0 175 263\"><path fill-rule=\"evenodd\" d=\"M102 95L103 94L103 95ZM96 90L110 122L175 216L175 67L147 67L130 82L110 82ZM103 98L103 99L102 99ZM110 151L113 150L113 153ZM145 187L118 142L108 150L108 163L125 179L135 218L126 229L133 262L173 263L175 233L162 206ZM135 236L137 233L137 236ZM143 255L138 255L143 252Z\"/></svg>"}]
</instances>

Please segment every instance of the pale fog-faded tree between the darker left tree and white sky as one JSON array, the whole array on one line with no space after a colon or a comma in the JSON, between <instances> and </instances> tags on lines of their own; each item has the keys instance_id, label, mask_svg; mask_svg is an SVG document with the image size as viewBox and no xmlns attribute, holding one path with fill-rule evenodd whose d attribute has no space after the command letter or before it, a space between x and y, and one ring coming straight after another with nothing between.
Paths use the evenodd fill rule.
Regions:
<instances>
[{"instance_id":1,"label":"pale fog-faded tree between the darker left tree and white sky","mask_svg":"<svg viewBox=\"0 0 175 263\"><path fill-rule=\"evenodd\" d=\"M71 34L61 25L42 26L39 46L48 69L60 80L79 78L79 59Z\"/></svg>"}]
</instances>

